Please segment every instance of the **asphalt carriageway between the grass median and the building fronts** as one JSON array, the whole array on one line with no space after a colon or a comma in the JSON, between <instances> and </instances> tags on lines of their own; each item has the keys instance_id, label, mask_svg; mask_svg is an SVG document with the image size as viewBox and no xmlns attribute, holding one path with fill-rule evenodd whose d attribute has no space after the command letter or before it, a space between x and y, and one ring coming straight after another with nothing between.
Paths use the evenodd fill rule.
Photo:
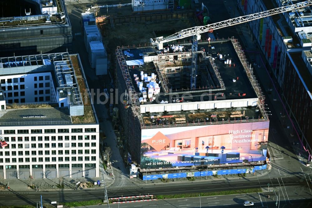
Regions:
<instances>
[{"instance_id":1,"label":"asphalt carriageway between the grass median and the building fronts","mask_svg":"<svg viewBox=\"0 0 312 208\"><path fill-rule=\"evenodd\" d=\"M311 190L305 180L300 179L297 176L287 177L283 179L283 184L278 178L271 178L271 187L281 187L285 189L281 194L282 200L290 200L293 194L297 198L311 197ZM257 188L267 187L268 179L253 177L250 179L233 179L233 180L202 180L194 182L176 182L176 183L160 183L155 185L146 186L127 186L123 188L114 189L111 187L108 190L109 197L117 196L133 196L133 195L159 195L159 194L175 194L175 193L190 193L190 192L206 192L206 191L222 191L222 190L236 190L243 188ZM287 194L286 190L289 191ZM296 190L296 191L295 191ZM310 191L309 191L310 190ZM287 194L287 196L286 196ZM51 201L84 201L103 199L103 189L93 190L63 190L63 191L21 191L17 193L15 191L2 192L0 196L1 205L20 205L20 204L36 204L40 200L42 195L43 203L51 203ZM218 196L219 197L219 196Z\"/></svg>"}]
</instances>

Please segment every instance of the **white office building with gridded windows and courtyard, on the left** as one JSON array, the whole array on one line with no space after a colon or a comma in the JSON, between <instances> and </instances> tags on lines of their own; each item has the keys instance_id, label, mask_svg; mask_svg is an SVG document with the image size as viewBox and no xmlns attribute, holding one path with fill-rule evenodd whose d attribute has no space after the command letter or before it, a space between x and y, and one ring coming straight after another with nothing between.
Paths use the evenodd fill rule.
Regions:
<instances>
[{"instance_id":1,"label":"white office building with gridded windows and courtyard, on the left","mask_svg":"<svg viewBox=\"0 0 312 208\"><path fill-rule=\"evenodd\" d=\"M0 177L99 176L99 124L80 92L79 56L0 58L0 80Z\"/></svg>"}]
</instances>

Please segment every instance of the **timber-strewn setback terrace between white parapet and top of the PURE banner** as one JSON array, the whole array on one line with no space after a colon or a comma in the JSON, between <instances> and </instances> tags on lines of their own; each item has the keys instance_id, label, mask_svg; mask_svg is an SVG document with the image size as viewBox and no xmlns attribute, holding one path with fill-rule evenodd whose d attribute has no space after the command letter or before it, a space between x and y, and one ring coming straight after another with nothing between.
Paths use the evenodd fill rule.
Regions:
<instances>
[{"instance_id":1,"label":"timber-strewn setback terrace between white parapet and top of the PURE banner","mask_svg":"<svg viewBox=\"0 0 312 208\"><path fill-rule=\"evenodd\" d=\"M193 124L221 124L222 122L267 121L266 117L263 118L261 111L259 111L257 106L142 113L142 117L144 126L147 128L149 126L156 127L158 125L170 127L170 125L185 126Z\"/></svg>"}]
</instances>

